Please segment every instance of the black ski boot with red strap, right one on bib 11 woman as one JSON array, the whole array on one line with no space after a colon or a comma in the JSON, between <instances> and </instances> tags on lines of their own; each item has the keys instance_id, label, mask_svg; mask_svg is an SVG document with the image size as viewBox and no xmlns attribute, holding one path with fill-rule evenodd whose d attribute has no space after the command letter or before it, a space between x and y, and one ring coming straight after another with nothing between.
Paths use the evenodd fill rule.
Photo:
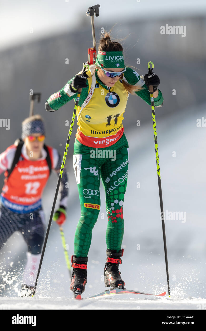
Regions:
<instances>
[{"instance_id":1,"label":"black ski boot with red strap, right one on bib 11 woman","mask_svg":"<svg viewBox=\"0 0 206 331\"><path fill-rule=\"evenodd\" d=\"M118 287L118 288L124 288L125 282L122 280L119 271L119 264L122 263L122 260L120 259L121 256L123 256L124 250L121 249L119 252L115 250L108 249L106 250L106 263L104 267L104 284L105 287Z\"/></svg>"}]
</instances>

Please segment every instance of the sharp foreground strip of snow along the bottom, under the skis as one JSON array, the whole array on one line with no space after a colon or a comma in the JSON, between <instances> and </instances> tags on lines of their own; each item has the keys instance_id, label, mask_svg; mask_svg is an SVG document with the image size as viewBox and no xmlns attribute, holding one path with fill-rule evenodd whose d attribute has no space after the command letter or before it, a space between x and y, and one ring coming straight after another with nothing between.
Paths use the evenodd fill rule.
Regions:
<instances>
[{"instance_id":1,"label":"sharp foreground strip of snow along the bottom, under the skis","mask_svg":"<svg viewBox=\"0 0 206 331\"><path fill-rule=\"evenodd\" d=\"M84 296L84 295L83 295ZM83 297L82 296L82 297ZM5 304L6 303L6 304ZM71 297L54 298L0 298L0 309L206 309L206 300L171 298L162 299L135 299L111 297L102 299L83 299L81 301Z\"/></svg>"}]
</instances>

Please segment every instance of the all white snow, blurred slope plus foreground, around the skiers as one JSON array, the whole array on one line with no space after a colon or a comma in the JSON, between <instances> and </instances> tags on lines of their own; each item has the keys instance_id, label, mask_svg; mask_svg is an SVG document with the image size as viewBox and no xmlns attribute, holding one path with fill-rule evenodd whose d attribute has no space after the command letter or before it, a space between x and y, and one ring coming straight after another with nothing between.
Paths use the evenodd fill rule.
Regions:
<instances>
[{"instance_id":1,"label":"all white snow, blurred slope plus foreground, around the skiers","mask_svg":"<svg viewBox=\"0 0 206 331\"><path fill-rule=\"evenodd\" d=\"M69 291L70 279L58 226L53 223L33 298L19 297L21 278L16 276L17 270L20 271L24 265L26 245L21 234L15 233L8 241L0 255L0 308L6 305L9 309L205 309L206 128L196 126L197 118L202 118L205 113L205 105L202 105L175 118L159 119L156 109L163 206L166 215L173 216L165 219L170 298L167 294L165 297L121 295L74 301ZM130 164L124 201L124 256L120 271L127 289L158 294L167 292L167 283L152 120L145 125L132 124L131 130L125 131L130 147ZM72 160L68 159L66 165L70 199L68 219L63 228L71 256L80 206ZM55 175L52 179L44 194L47 221L57 183ZM88 282L83 297L104 290L107 217L102 186L101 197L101 211L88 255ZM179 213L181 217L174 219L178 212L182 213Z\"/></svg>"}]
</instances>

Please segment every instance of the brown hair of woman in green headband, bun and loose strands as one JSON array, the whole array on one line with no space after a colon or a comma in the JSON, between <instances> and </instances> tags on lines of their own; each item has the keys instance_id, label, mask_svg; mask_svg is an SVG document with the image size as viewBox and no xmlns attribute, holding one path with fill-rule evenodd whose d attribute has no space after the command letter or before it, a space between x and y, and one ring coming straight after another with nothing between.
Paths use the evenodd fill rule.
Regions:
<instances>
[{"instance_id":1,"label":"brown hair of woman in green headband, bun and loose strands","mask_svg":"<svg viewBox=\"0 0 206 331\"><path fill-rule=\"evenodd\" d=\"M100 39L98 50L103 51L103 52L122 52L123 47L118 41L112 41L110 39L110 32L105 31L104 33L102 33L102 38ZM101 69L100 67L96 67L96 68L98 70ZM124 88L130 94L136 95L135 91L142 90L142 87L140 87L140 86L134 86L132 84L127 83L123 79L123 74L121 75L120 79L122 79Z\"/></svg>"}]
</instances>

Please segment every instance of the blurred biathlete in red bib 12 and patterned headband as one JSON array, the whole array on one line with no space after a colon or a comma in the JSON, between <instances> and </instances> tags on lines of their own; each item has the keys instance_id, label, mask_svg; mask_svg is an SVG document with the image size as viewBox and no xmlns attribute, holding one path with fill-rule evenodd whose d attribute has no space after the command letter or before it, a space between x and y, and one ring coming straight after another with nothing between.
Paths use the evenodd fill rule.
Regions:
<instances>
[{"instance_id":1,"label":"blurred biathlete in red bib 12 and patterned headband","mask_svg":"<svg viewBox=\"0 0 206 331\"><path fill-rule=\"evenodd\" d=\"M62 159L56 149L44 145L45 126L40 115L22 122L21 138L0 154L0 173L5 171L0 196L0 249L15 231L22 233L28 252L21 295L31 296L44 241L41 197L51 170L59 174ZM66 218L68 185L65 183L66 171L62 174L60 207L53 218L59 225Z\"/></svg>"}]
</instances>

